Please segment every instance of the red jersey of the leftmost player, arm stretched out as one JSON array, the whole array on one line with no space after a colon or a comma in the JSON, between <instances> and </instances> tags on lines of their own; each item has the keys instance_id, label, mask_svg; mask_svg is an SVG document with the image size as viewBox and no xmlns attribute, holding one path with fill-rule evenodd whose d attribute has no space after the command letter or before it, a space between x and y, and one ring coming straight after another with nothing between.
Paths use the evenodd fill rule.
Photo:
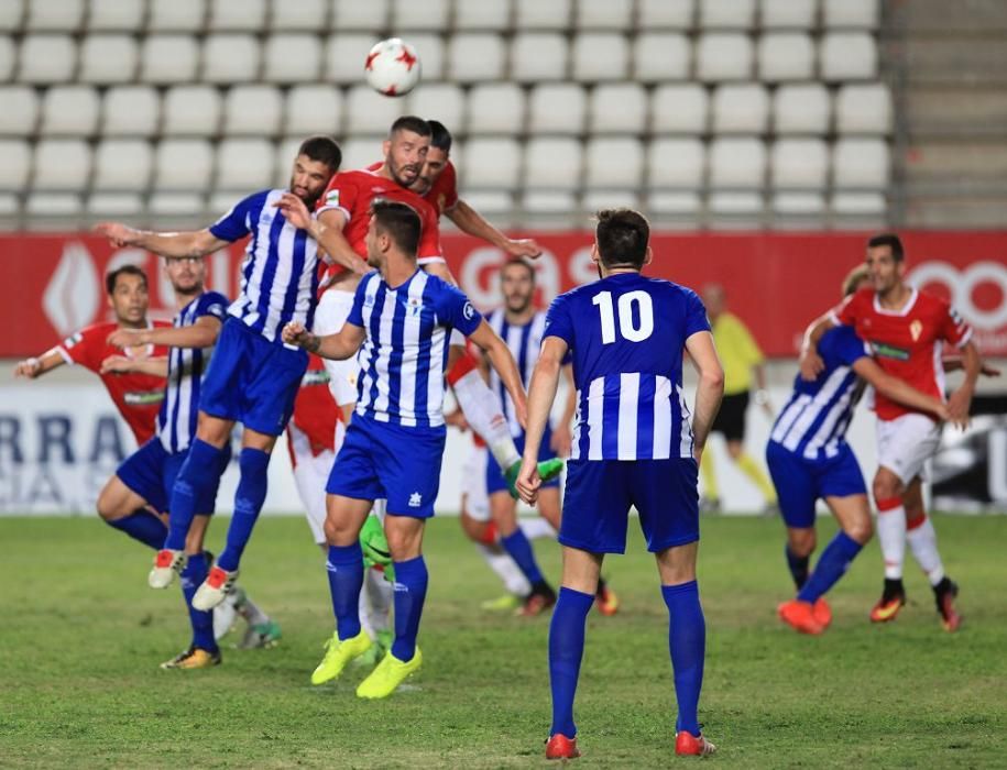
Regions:
<instances>
[{"instance_id":1,"label":"red jersey of the leftmost player, arm stretched out","mask_svg":"<svg viewBox=\"0 0 1007 770\"><path fill-rule=\"evenodd\" d=\"M149 323L147 328L162 329L171 326L166 321L154 321ZM139 356L130 350L120 350L108 343L109 334L118 328L119 324L114 321L94 323L66 338L56 350L66 363L80 364L101 377L119 414L136 437L136 443L142 444L156 432L157 413L164 400L166 380L152 374L101 374L101 362L110 355L160 359L168 354L168 349L164 345L147 345L144 353Z\"/></svg>"}]
</instances>

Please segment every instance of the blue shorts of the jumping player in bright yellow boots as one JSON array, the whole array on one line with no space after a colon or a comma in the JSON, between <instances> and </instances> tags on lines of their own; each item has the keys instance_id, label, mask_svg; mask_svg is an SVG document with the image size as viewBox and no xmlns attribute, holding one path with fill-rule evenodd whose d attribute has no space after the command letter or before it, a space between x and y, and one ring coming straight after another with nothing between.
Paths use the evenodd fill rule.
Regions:
<instances>
[{"instance_id":1,"label":"blue shorts of the jumping player in bright yellow boots","mask_svg":"<svg viewBox=\"0 0 1007 770\"><path fill-rule=\"evenodd\" d=\"M434 515L447 431L403 428L353 415L326 492L354 499L388 501L388 513Z\"/></svg>"}]
</instances>

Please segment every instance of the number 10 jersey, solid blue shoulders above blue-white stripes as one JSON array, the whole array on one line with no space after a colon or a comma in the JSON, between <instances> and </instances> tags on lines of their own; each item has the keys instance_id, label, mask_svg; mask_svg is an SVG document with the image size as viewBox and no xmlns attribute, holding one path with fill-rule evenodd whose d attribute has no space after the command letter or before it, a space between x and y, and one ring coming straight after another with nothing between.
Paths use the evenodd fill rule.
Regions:
<instances>
[{"instance_id":1,"label":"number 10 jersey, solid blue shoulders above blue-white stripes","mask_svg":"<svg viewBox=\"0 0 1007 770\"><path fill-rule=\"evenodd\" d=\"M691 458L682 352L700 331L710 331L710 321L694 292L638 273L611 275L552 300L545 336L573 353L570 459Z\"/></svg>"}]
</instances>

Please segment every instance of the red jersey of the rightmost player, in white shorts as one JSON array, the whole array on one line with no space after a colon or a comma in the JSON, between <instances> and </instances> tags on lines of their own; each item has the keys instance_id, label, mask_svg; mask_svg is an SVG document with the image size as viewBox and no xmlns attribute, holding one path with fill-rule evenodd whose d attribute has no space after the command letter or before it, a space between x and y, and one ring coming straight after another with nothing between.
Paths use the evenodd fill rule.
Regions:
<instances>
[{"instance_id":1,"label":"red jersey of the rightmost player, in white shorts","mask_svg":"<svg viewBox=\"0 0 1007 770\"><path fill-rule=\"evenodd\" d=\"M912 289L900 310L882 308L874 289L861 289L833 311L833 320L852 326L871 345L878 365L894 377L929 396L944 399L944 342L961 348L972 328L946 301ZM875 394L878 419L894 420L917 411Z\"/></svg>"}]
</instances>

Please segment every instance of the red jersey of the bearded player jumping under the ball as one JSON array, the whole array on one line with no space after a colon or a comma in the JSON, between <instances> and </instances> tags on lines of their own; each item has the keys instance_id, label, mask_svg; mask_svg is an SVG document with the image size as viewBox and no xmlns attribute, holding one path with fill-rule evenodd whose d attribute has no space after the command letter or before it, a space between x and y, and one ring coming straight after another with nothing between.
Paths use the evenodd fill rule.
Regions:
<instances>
[{"instance_id":1,"label":"red jersey of the bearded player jumping under the ball","mask_svg":"<svg viewBox=\"0 0 1007 770\"><path fill-rule=\"evenodd\" d=\"M380 166L379 166L380 167ZM438 215L426 199L412 190L396 185L391 179L366 169L355 172L340 172L332 177L325 195L318 201L317 213L337 209L347 218L342 234L350 246L368 258L368 224L370 223L371 201L375 198L387 198L406 204L416 210L423 222L423 233L419 237L419 248L416 255L419 264L444 260L440 249L440 228ZM322 285L328 285L337 275L343 272L340 265L328 265Z\"/></svg>"}]
</instances>

